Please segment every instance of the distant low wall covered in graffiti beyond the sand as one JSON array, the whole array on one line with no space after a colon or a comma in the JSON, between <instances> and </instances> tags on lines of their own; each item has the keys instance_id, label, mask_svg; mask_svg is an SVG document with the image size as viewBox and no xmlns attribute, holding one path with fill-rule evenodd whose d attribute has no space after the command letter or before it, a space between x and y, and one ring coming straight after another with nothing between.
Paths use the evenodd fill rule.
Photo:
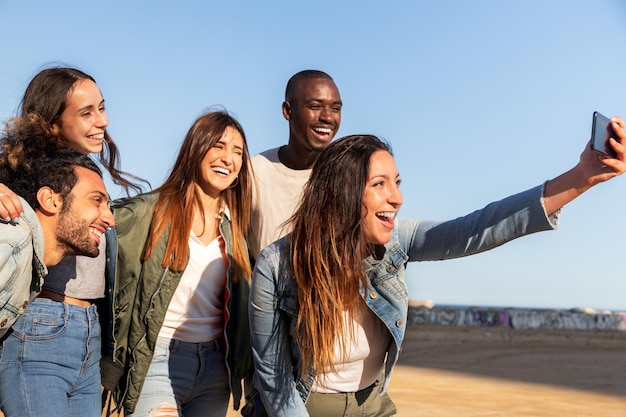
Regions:
<instances>
[{"instance_id":1,"label":"distant low wall covered in graffiti beyond the sand","mask_svg":"<svg viewBox=\"0 0 626 417\"><path fill-rule=\"evenodd\" d=\"M626 330L626 314L587 310L542 310L410 306L409 324L438 326L505 326L514 329Z\"/></svg>"}]
</instances>

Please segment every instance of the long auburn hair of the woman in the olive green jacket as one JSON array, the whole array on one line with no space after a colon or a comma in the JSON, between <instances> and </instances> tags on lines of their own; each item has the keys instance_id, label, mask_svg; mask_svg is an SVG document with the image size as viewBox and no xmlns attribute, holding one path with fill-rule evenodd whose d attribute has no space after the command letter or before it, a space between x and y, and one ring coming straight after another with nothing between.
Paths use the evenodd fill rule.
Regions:
<instances>
[{"instance_id":1,"label":"long auburn hair of the woman in the olive green jacket","mask_svg":"<svg viewBox=\"0 0 626 417\"><path fill-rule=\"evenodd\" d=\"M233 259L235 278L249 279L250 259L245 238L250 226L250 200L252 195L250 155L243 128L226 111L210 111L193 123L181 145L172 172L159 191L152 226L146 241L142 259L150 257L168 224L170 234L162 260L164 268L175 271L185 269L189 258L189 234L191 233L194 208L201 208L196 187L200 165L206 153L222 138L226 128L237 130L243 138L243 161L234 185L222 191L220 198L231 214L233 232ZM204 211L200 210L202 216Z\"/></svg>"}]
</instances>

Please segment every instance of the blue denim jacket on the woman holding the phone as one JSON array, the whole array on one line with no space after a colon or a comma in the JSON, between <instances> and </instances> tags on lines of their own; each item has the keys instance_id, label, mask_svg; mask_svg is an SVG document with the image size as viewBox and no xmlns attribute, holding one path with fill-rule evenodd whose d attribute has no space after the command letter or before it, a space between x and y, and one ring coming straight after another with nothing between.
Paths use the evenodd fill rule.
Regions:
<instances>
[{"instance_id":1,"label":"blue denim jacket on the woman holding the phone","mask_svg":"<svg viewBox=\"0 0 626 417\"><path fill-rule=\"evenodd\" d=\"M454 220L401 220L384 246L384 254L365 260L370 287L361 288L361 295L393 337L382 392L389 384L406 330L407 262L473 255L520 236L554 229L558 213L546 216L542 196L543 186L537 186ZM286 253L283 238L265 248L255 265L249 309L254 382L268 415L308 416L304 404L314 375L302 378L300 371L300 352L294 339L297 286Z\"/></svg>"}]
</instances>

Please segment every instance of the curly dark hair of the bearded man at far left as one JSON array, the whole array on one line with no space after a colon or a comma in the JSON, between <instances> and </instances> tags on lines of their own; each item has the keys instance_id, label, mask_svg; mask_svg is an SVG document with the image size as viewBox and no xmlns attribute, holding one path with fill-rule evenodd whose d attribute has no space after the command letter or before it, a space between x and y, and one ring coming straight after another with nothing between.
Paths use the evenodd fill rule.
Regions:
<instances>
[{"instance_id":1,"label":"curly dark hair of the bearded man at far left","mask_svg":"<svg viewBox=\"0 0 626 417\"><path fill-rule=\"evenodd\" d=\"M78 181L75 167L102 171L87 155L60 145L60 139L41 117L31 114L6 124L0 138L0 179L33 208L37 192L50 187L65 200Z\"/></svg>"}]
</instances>

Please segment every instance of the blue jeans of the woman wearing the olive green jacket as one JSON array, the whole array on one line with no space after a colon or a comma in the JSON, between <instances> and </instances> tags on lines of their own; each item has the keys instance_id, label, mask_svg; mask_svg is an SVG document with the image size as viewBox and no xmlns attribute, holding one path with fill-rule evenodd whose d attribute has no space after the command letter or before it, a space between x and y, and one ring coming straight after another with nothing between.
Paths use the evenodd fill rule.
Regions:
<instances>
[{"instance_id":1,"label":"blue jeans of the woman wearing the olive green jacket","mask_svg":"<svg viewBox=\"0 0 626 417\"><path fill-rule=\"evenodd\" d=\"M189 343L159 337L137 408L126 415L226 416L230 386L223 346L223 338Z\"/></svg>"}]
</instances>

